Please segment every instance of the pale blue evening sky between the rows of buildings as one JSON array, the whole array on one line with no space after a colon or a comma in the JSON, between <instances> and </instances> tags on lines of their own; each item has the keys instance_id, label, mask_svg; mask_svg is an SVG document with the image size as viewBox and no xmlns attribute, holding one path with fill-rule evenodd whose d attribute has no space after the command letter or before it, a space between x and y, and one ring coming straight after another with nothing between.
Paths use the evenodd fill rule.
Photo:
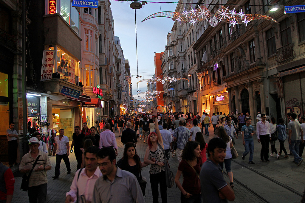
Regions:
<instances>
[{"instance_id":1,"label":"pale blue evening sky between the rows of buildings","mask_svg":"<svg viewBox=\"0 0 305 203\"><path fill-rule=\"evenodd\" d=\"M165 0L163 2L169 2ZM172 1L173 2L173 1ZM178 1L177 1L178 2ZM114 35L120 38L125 59L129 60L132 77L132 94L138 99L137 89L137 58L135 44L135 10L129 7L130 2L110 1L114 19ZM160 10L161 6L161 10ZM141 23L143 19L160 11L175 11L177 4L148 3L136 10L137 43L138 43L138 73L146 75L141 79L151 79L155 72L154 55L165 50L167 33L174 21L170 18L152 18ZM147 82L139 82L139 91L147 90ZM142 97L140 95L140 97Z\"/></svg>"}]
</instances>

